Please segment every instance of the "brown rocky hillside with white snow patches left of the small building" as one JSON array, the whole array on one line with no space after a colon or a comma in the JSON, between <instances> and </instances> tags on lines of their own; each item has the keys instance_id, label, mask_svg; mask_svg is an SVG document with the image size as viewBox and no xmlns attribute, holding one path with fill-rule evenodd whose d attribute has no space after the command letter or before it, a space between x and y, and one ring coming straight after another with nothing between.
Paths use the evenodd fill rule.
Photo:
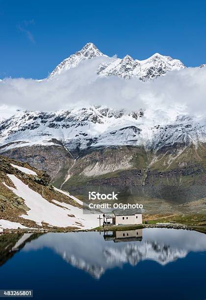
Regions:
<instances>
[{"instance_id":1,"label":"brown rocky hillside with white snow patches left of the small building","mask_svg":"<svg viewBox=\"0 0 206 300\"><path fill-rule=\"evenodd\" d=\"M55 189L46 173L0 156L0 232L3 228L92 228L83 203Z\"/></svg>"}]
</instances>

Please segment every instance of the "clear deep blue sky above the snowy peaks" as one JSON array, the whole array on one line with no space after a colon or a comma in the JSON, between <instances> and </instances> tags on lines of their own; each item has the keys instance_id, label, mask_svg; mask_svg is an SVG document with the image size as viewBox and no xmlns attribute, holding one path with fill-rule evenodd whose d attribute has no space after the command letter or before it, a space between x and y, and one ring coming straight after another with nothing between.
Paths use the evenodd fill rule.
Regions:
<instances>
[{"instance_id":1,"label":"clear deep blue sky above the snowy peaks","mask_svg":"<svg viewBox=\"0 0 206 300\"><path fill-rule=\"evenodd\" d=\"M154 52L206 63L205 0L0 0L0 78L44 78L93 42L103 53Z\"/></svg>"}]
</instances>

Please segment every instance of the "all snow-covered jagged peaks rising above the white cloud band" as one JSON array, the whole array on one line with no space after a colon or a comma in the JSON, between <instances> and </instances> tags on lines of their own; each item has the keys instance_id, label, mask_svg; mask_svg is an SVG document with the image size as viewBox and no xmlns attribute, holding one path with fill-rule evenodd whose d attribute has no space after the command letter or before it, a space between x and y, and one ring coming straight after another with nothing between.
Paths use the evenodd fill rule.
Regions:
<instances>
[{"instance_id":1,"label":"all snow-covered jagged peaks rising above the white cloud band","mask_svg":"<svg viewBox=\"0 0 206 300\"><path fill-rule=\"evenodd\" d=\"M77 67L85 59L92 59L102 56L105 62L101 63L97 69L97 74L101 76L119 76L124 78L137 77L140 80L152 79L162 76L172 70L185 68L178 59L155 53L145 60L133 59L129 55L124 58L110 58L103 54L92 44L86 44L81 50L64 59L50 74L49 79L57 78L62 72Z\"/></svg>"}]
</instances>

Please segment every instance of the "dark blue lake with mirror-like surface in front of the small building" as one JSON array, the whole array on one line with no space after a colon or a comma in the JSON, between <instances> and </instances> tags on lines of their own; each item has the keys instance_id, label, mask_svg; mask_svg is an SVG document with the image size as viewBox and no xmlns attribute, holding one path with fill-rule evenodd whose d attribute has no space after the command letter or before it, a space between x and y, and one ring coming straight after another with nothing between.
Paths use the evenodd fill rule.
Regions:
<instances>
[{"instance_id":1,"label":"dark blue lake with mirror-like surface in front of the small building","mask_svg":"<svg viewBox=\"0 0 206 300\"><path fill-rule=\"evenodd\" d=\"M0 237L0 289L32 289L44 300L206 299L206 235L152 228L137 235Z\"/></svg>"}]
</instances>

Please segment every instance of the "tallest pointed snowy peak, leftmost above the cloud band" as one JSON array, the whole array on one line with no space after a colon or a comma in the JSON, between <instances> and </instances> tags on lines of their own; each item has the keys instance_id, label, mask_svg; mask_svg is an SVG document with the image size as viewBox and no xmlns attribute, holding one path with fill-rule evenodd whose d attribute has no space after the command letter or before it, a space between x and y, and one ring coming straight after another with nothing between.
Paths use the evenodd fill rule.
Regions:
<instances>
[{"instance_id":1,"label":"tallest pointed snowy peak, leftmost above the cloud band","mask_svg":"<svg viewBox=\"0 0 206 300\"><path fill-rule=\"evenodd\" d=\"M63 71L67 71L71 68L77 67L77 65L85 59L91 59L97 56L105 56L93 43L87 43L81 50L75 54L70 55L64 59L56 68L52 71L49 78L59 75Z\"/></svg>"}]
</instances>

